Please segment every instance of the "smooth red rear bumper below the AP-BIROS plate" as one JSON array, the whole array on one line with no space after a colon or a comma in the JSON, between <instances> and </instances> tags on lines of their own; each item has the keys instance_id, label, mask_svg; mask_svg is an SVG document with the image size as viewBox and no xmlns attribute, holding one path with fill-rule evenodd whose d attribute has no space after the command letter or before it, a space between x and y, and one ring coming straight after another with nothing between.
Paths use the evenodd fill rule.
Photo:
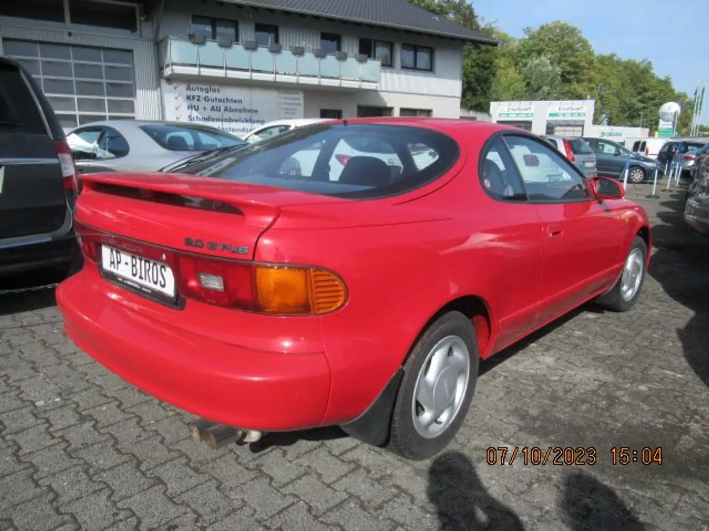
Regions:
<instances>
[{"instance_id":1,"label":"smooth red rear bumper below the AP-BIROS plate","mask_svg":"<svg viewBox=\"0 0 709 531\"><path fill-rule=\"evenodd\" d=\"M67 335L79 348L169 404L211 421L262 431L311 428L323 421L330 396L324 353L235 346L178 322L171 326L146 318L138 306L151 302L106 290L106 282L89 268L62 282L57 304Z\"/></svg>"}]
</instances>

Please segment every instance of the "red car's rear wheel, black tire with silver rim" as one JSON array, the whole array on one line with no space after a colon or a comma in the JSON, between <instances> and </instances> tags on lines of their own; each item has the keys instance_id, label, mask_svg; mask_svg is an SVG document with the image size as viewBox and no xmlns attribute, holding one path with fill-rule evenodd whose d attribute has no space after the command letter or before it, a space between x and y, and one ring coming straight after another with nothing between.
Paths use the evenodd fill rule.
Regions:
<instances>
[{"instance_id":1,"label":"red car's rear wheel, black tire with silver rim","mask_svg":"<svg viewBox=\"0 0 709 531\"><path fill-rule=\"evenodd\" d=\"M479 365L470 319L460 312L449 312L430 324L403 366L389 449L416 461L443 450L465 420ZM424 400L429 402L424 406L419 397L427 394L426 389L431 400Z\"/></svg>"}]
</instances>

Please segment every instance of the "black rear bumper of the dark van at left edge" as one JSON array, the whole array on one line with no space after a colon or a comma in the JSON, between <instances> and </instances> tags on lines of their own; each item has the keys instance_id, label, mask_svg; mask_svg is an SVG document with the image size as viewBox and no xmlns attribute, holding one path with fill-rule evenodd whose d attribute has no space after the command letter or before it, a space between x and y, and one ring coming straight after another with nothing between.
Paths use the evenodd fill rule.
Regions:
<instances>
[{"instance_id":1,"label":"black rear bumper of the dark van at left edge","mask_svg":"<svg viewBox=\"0 0 709 531\"><path fill-rule=\"evenodd\" d=\"M80 256L74 231L36 241L28 239L11 245L0 243L0 275L68 265L78 261Z\"/></svg>"}]
</instances>

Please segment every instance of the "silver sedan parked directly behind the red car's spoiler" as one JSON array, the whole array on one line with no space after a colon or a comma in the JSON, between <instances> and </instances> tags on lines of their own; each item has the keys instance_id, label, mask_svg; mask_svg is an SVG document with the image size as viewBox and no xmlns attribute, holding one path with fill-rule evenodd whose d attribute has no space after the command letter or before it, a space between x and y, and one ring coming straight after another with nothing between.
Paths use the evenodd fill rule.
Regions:
<instances>
[{"instance_id":1,"label":"silver sedan parked directly behind the red car's spoiler","mask_svg":"<svg viewBox=\"0 0 709 531\"><path fill-rule=\"evenodd\" d=\"M149 120L109 120L67 135L78 173L158 171L195 154L245 142L208 125Z\"/></svg>"}]
</instances>

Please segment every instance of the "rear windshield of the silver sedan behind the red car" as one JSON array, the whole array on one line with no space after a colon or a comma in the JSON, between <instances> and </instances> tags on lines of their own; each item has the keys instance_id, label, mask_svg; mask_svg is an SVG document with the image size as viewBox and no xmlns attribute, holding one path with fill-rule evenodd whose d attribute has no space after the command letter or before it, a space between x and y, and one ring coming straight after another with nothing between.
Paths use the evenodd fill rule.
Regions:
<instances>
[{"instance_id":1,"label":"rear windshield of the silver sedan behind the red car","mask_svg":"<svg viewBox=\"0 0 709 531\"><path fill-rule=\"evenodd\" d=\"M150 124L141 125L140 129L164 149L174 152L206 152L246 143L228 132L199 125Z\"/></svg>"}]
</instances>

